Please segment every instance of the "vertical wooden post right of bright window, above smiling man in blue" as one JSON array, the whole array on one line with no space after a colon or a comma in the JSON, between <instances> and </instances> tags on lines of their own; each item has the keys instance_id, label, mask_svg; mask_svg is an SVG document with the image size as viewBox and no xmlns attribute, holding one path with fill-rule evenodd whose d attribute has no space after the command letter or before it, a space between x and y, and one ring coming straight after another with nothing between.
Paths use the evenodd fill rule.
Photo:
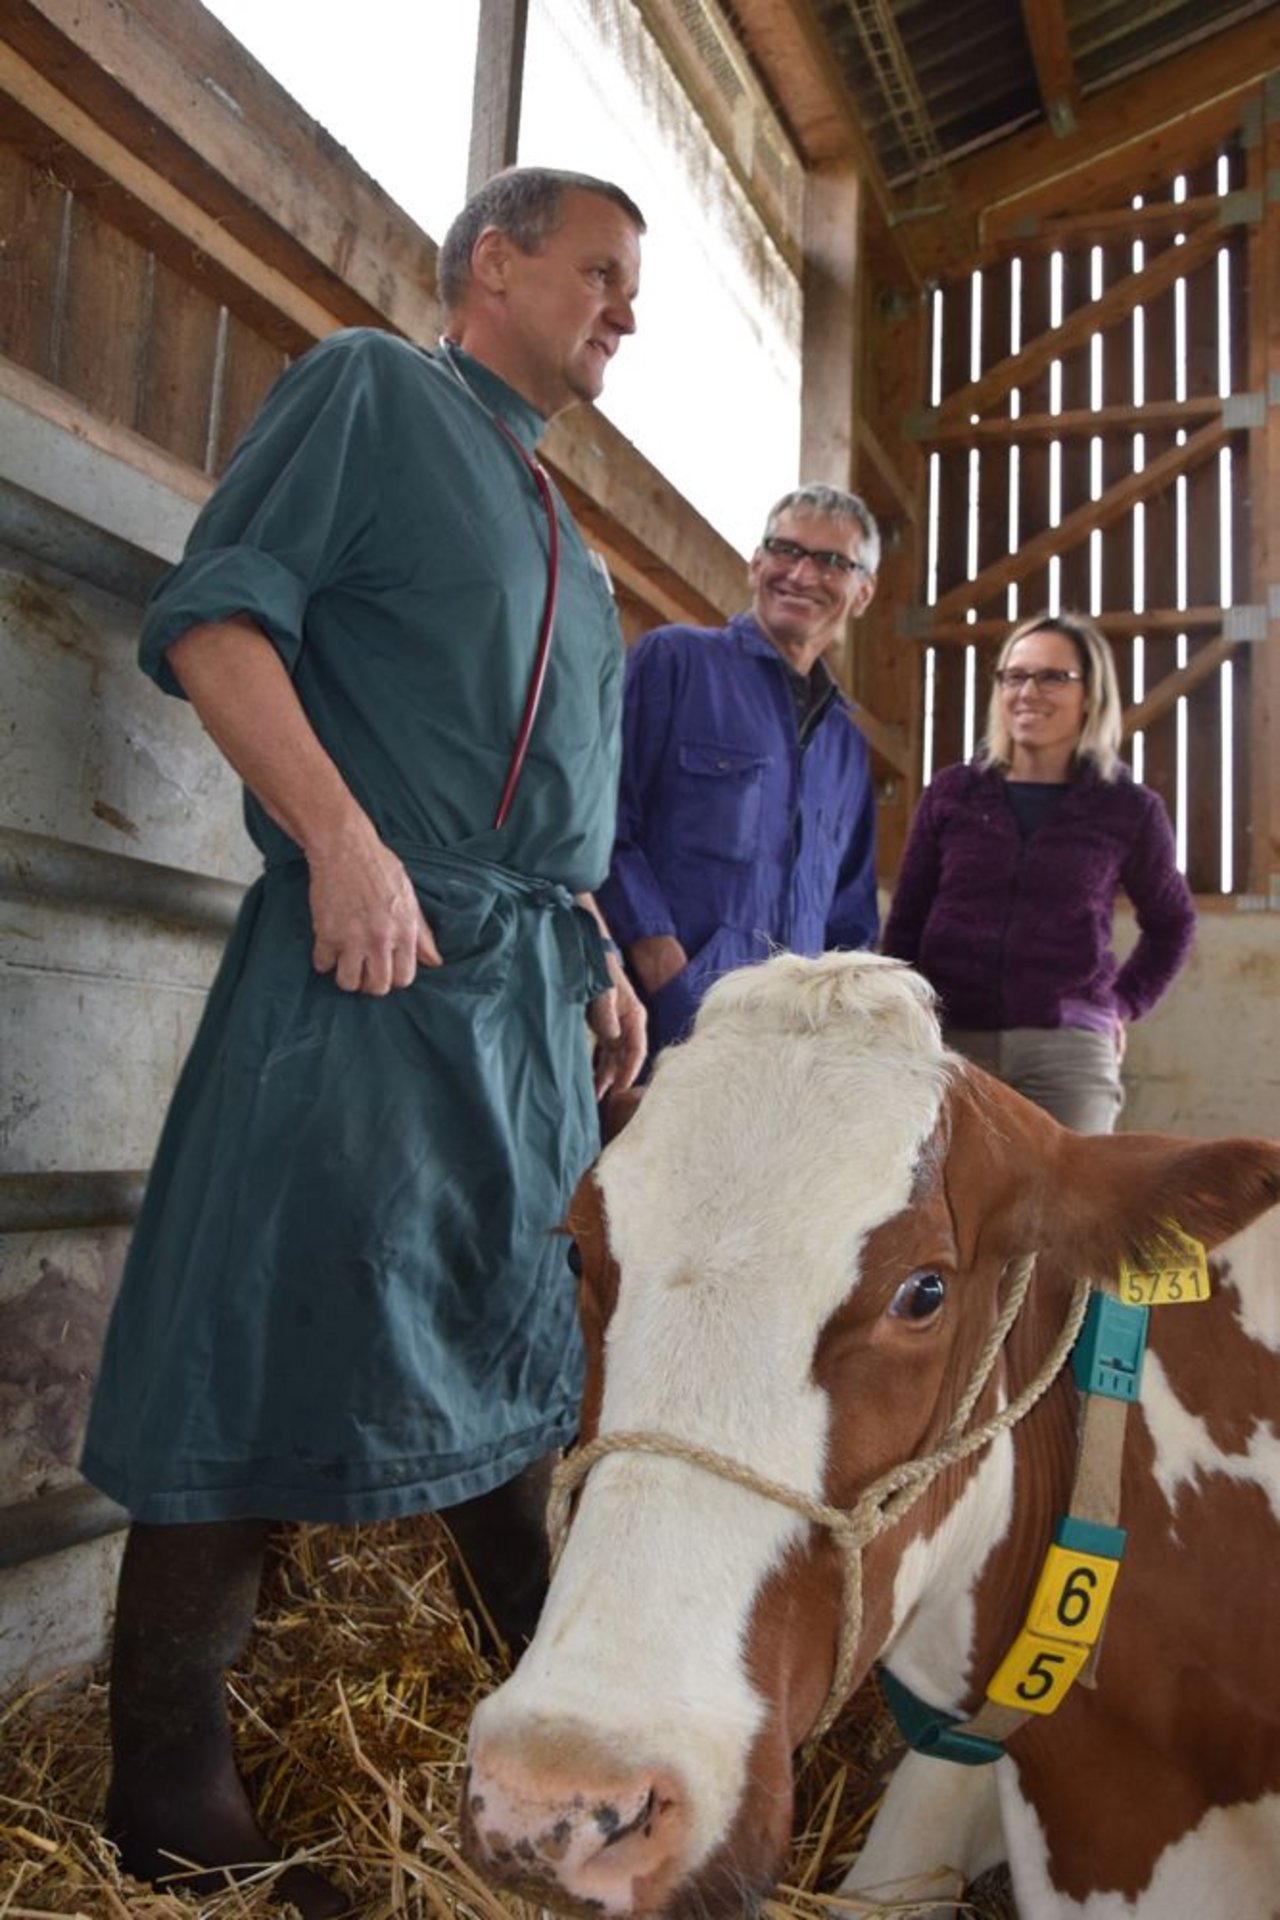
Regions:
<instances>
[{"instance_id":1,"label":"vertical wooden post right of bright window, above smiling man in blue","mask_svg":"<svg viewBox=\"0 0 1280 1920\"><path fill-rule=\"evenodd\" d=\"M854 484L854 390L864 303L862 192L846 161L806 177L800 276L800 480Z\"/></svg>"}]
</instances>

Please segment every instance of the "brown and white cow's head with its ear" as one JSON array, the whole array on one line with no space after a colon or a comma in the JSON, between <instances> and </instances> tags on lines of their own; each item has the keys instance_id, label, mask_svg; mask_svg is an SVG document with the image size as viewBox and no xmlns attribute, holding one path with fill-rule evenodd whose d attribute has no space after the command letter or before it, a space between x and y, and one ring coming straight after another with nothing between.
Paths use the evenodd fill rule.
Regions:
<instances>
[{"instance_id":1,"label":"brown and white cow's head with its ear","mask_svg":"<svg viewBox=\"0 0 1280 1920\"><path fill-rule=\"evenodd\" d=\"M1276 1192L1261 1146L1055 1127L944 1052L894 962L775 958L714 989L580 1188L583 1436L676 1436L852 1507L940 1442L1019 1256L1054 1329L1079 1275L1159 1223L1215 1244ZM1019 1340L1044 1346L1031 1321ZM1004 1394L1002 1363L977 1415ZM938 1565L977 1580L1009 1498L1006 1444L867 1549L858 1674L927 1619ZM476 1713L472 1857L597 1914L748 1910L841 1601L831 1538L793 1507L693 1452L603 1457L537 1636Z\"/></svg>"}]
</instances>

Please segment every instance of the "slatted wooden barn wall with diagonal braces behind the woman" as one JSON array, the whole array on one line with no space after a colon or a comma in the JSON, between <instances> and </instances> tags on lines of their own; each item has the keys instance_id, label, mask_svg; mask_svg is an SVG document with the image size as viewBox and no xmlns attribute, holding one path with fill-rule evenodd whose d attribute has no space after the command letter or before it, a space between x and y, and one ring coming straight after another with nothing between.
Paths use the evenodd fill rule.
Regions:
<instances>
[{"instance_id":1,"label":"slatted wooden barn wall with diagonal braces behind the woman","mask_svg":"<svg viewBox=\"0 0 1280 1920\"><path fill-rule=\"evenodd\" d=\"M923 580L921 612L908 622L933 680L921 762L940 768L981 737L990 668L1011 620L1046 607L1098 614L1128 708L1126 751L1169 806L1186 845L1188 879L1201 895L1249 889L1253 682L1267 668L1268 595L1251 568L1253 415L1232 415L1221 392L1224 367L1232 396L1249 386L1249 232L1263 217L1263 196L1253 196L1251 217L1242 215L1244 186L1245 156L1232 142L1188 167L1178 194L1173 179L1161 196L1148 192L1148 209L1161 200L1190 202L1188 238L1215 228L1207 257L1199 242L1197 263L1144 298L1136 313L1080 338L990 399L983 382L992 372L998 378L1011 355L1052 338L1094 300L1151 267L1174 246L1176 228L1150 217L1144 225L1132 196L1113 188L1111 205L1094 209L1092 219L1063 219L988 261L979 276L942 286L935 307L940 394L923 394L921 428L933 463L936 578ZM948 422L946 409L969 388L975 419L965 428L963 420ZM1184 407L1178 413L1167 403ZM1265 396L1257 396L1255 411L1261 407ZM1061 434L1044 424L1055 415L1067 417ZM1029 422L1021 434L1019 420ZM940 438L938 422L948 428ZM1111 513L1111 488L1132 486L1161 457L1176 461L1176 449L1196 434L1205 436L1207 457ZM1017 549L1031 564L1007 564ZM1238 643L1226 647L1224 636ZM1186 668L1196 676L1201 653L1213 670L1180 699L1161 699L1171 676ZM1134 712L1151 695L1163 710Z\"/></svg>"}]
</instances>

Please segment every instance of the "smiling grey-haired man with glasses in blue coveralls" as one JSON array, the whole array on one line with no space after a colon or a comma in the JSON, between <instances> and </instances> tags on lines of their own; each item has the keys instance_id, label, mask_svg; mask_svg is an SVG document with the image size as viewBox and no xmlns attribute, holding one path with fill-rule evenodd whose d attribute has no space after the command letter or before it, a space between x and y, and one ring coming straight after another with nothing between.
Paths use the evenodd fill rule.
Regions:
<instances>
[{"instance_id":1,"label":"smiling grey-haired man with glasses in blue coveralls","mask_svg":"<svg viewBox=\"0 0 1280 1920\"><path fill-rule=\"evenodd\" d=\"M729 968L875 941L867 749L823 655L871 603L879 551L856 493L802 486L768 516L750 612L660 626L631 649L599 899L651 1054L689 1031Z\"/></svg>"}]
</instances>

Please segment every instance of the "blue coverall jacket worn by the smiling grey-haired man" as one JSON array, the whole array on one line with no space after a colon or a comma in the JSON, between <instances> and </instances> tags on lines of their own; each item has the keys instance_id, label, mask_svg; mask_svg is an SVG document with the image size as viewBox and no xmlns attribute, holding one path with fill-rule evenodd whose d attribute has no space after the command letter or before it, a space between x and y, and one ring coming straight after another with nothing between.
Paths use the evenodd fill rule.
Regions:
<instances>
[{"instance_id":1,"label":"blue coverall jacket worn by the smiling grey-haired man","mask_svg":"<svg viewBox=\"0 0 1280 1920\"><path fill-rule=\"evenodd\" d=\"M689 966L649 1004L651 1050L720 973L771 948L877 935L875 795L852 707L827 682L800 739L793 672L750 614L662 626L631 649L618 839L601 889L626 948L674 933Z\"/></svg>"}]
</instances>

